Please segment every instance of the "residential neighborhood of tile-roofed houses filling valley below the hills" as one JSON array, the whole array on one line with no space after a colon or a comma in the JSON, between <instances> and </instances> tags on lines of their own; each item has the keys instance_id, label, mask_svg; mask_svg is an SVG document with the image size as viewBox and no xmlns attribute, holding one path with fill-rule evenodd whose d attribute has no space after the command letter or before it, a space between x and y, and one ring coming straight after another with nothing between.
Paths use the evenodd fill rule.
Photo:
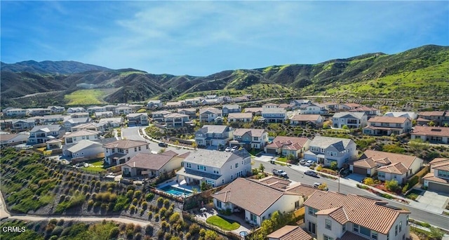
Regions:
<instances>
[{"instance_id":1,"label":"residential neighborhood of tile-roofed houses filling valley below the hills","mask_svg":"<svg viewBox=\"0 0 449 240\"><path fill-rule=\"evenodd\" d=\"M411 146L447 145L445 112L382 115L374 107L353 103L295 100L242 107L232 99L222 106L220 101L208 95L178 105L152 100L140 107L69 107L65 112L53 106L54 114L13 109L4 111L11 119L1 120L1 145L43 147L69 164L101 159L119 181L170 176L167 182L172 183L156 189L175 197L218 188L208 196L216 213L231 213L250 227L261 227L275 213L304 211L302 223L281 226L267 239L409 239L409 211L390 207L382 195L339 193L343 175L344 185L354 188L366 183L376 189L395 181L413 191L420 186L422 192L449 193L447 158L424 160L358 146L358 139L396 137L406 138ZM304 133L275 135L280 127ZM127 139L129 131L138 137ZM323 135L326 131L338 134ZM358 138L346 137L350 135ZM338 180L337 189L320 180L325 177ZM374 210L382 214L367 215Z\"/></svg>"}]
</instances>

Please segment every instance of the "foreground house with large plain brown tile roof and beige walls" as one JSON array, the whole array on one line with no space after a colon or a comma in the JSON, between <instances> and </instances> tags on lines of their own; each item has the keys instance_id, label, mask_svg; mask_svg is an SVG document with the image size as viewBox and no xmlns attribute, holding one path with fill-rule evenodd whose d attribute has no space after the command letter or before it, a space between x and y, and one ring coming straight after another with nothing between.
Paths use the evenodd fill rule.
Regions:
<instances>
[{"instance_id":1,"label":"foreground house with large plain brown tile roof and beige walls","mask_svg":"<svg viewBox=\"0 0 449 240\"><path fill-rule=\"evenodd\" d=\"M272 213L291 212L304 203L304 194L266 185L258 180L237 178L212 195L215 208L244 212L245 220L260 226Z\"/></svg>"}]
</instances>

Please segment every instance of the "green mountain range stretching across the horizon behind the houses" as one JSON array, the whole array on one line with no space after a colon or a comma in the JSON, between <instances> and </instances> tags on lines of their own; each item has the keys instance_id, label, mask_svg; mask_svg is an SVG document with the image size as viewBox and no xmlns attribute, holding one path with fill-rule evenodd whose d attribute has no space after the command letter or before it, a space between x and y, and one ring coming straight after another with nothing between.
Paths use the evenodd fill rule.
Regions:
<instances>
[{"instance_id":1,"label":"green mountain range stretching across the horizon behind the houses","mask_svg":"<svg viewBox=\"0 0 449 240\"><path fill-rule=\"evenodd\" d=\"M150 74L74 61L1 62L1 106L175 100L203 93L252 93L264 98L271 91L290 97L449 100L448 69L449 46L435 45L391 55L368 53L314 65L226 70L209 76ZM95 84L95 89L81 89L77 84ZM84 100L77 99L79 96Z\"/></svg>"}]
</instances>

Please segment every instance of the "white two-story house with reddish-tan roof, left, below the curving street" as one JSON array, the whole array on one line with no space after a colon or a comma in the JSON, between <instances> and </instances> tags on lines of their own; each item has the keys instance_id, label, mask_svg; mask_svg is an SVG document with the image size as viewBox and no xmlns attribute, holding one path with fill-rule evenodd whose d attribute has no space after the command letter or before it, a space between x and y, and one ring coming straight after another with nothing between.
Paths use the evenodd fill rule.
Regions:
<instances>
[{"instance_id":1,"label":"white two-story house with reddish-tan roof, left, below the curving street","mask_svg":"<svg viewBox=\"0 0 449 240\"><path fill-rule=\"evenodd\" d=\"M119 165L129 161L138 153L149 153L149 143L137 140L116 140L103 145L105 149L105 163Z\"/></svg>"}]
</instances>

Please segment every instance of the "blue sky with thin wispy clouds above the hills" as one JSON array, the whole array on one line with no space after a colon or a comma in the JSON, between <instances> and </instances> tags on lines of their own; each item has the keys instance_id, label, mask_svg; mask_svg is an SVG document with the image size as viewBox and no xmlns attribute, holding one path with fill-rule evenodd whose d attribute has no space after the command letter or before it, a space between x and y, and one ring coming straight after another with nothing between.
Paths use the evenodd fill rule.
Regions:
<instances>
[{"instance_id":1,"label":"blue sky with thin wispy clouds above the hills","mask_svg":"<svg viewBox=\"0 0 449 240\"><path fill-rule=\"evenodd\" d=\"M1 61L206 76L449 46L448 1L1 1Z\"/></svg>"}]
</instances>

